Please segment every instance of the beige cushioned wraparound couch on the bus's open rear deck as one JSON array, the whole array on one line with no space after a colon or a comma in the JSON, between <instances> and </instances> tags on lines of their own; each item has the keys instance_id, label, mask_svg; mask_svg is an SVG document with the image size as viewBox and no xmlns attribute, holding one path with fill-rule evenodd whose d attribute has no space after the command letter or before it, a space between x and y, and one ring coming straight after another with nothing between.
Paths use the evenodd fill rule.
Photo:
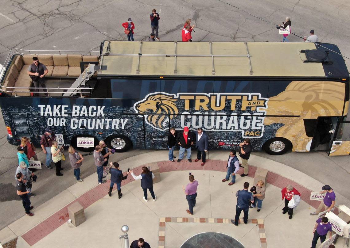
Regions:
<instances>
[{"instance_id":1,"label":"beige cushioned wraparound couch on the bus's open rear deck","mask_svg":"<svg viewBox=\"0 0 350 248\"><path fill-rule=\"evenodd\" d=\"M33 87L32 80L29 77L27 70L29 65L33 63L33 57L38 57L40 63L44 64L48 69L46 78L78 78L80 75L80 62L98 62L98 56L93 55L50 55L50 54L24 54L23 56L16 55L10 64L9 70L6 73L5 80L2 86L5 87L23 87L16 89L18 96L30 96L29 89ZM3 90L12 91L14 89L3 88ZM18 93L19 91L24 93ZM33 90L31 90L33 91ZM8 94L10 94L8 92Z\"/></svg>"}]
</instances>

